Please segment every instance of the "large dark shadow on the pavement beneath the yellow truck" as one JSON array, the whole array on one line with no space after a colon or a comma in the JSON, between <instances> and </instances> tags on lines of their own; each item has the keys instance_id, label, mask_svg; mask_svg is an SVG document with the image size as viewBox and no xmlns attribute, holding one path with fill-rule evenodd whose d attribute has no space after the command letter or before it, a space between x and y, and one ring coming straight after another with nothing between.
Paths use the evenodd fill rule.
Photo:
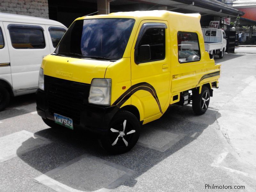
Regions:
<instances>
[{"instance_id":1,"label":"large dark shadow on the pavement beneath the yellow truck","mask_svg":"<svg viewBox=\"0 0 256 192\"><path fill-rule=\"evenodd\" d=\"M186 117L186 119L184 117ZM203 122L197 121L202 117L204 117ZM34 140L34 138L29 138L22 143L22 146L17 150L17 154L22 161L42 174L49 172L79 156L89 154L90 156L116 164L117 166L123 166L133 170L133 175L117 185L133 187L137 182L137 177L196 140L209 125L215 122L216 117L220 117L220 114L216 110L209 109L203 116L195 116L191 106L180 107L173 105L160 119L143 125L141 127L141 139L138 144L131 151L121 155L109 155L104 151L98 145L97 135L81 131L74 132L66 128L48 128L36 132L35 137L38 135L51 140L52 143L24 153L22 152L22 146L29 146L29 143ZM169 147L164 148L164 150L161 151L157 149L160 149L161 146L165 144L161 143L161 137L163 134L165 136L165 140L168 140L168 135L170 135L170 140L167 141L169 143L165 145ZM177 136L179 140L173 142L172 137L175 135L181 136ZM159 146L157 146L157 144L159 144ZM205 145L207 145L207 141L205 141ZM97 167L94 167L97 165L94 165L93 163L91 166L91 169L97 170ZM80 169L84 169L84 167L82 166ZM97 170L93 172L94 174L91 172L92 175L82 177L81 174L74 171L73 175L77 174L77 177L81 177L82 179L92 177L91 179L95 180L95 183L97 183L99 179L105 179L104 177L99 178L97 176L99 172L100 170ZM108 173L106 173L105 177L108 177ZM58 177L52 177L52 179L58 180ZM77 178L77 180L79 180L79 178ZM59 180L59 182L70 188L81 191L95 191L102 187L108 189L117 187L106 187L99 184L94 187L84 186L81 188L80 185L76 185L75 182L69 182L68 180Z\"/></svg>"}]
</instances>

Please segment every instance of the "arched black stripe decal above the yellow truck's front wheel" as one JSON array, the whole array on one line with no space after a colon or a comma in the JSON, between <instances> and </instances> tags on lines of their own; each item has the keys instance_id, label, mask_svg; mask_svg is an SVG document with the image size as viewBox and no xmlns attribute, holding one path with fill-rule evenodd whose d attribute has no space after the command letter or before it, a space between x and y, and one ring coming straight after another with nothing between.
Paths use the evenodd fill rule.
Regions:
<instances>
[{"instance_id":1,"label":"arched black stripe decal above the yellow truck's front wheel","mask_svg":"<svg viewBox=\"0 0 256 192\"><path fill-rule=\"evenodd\" d=\"M156 94L156 90L155 88L151 85L148 84L146 82L142 82L142 83L138 83L135 85L132 85L129 89L127 89L114 103L113 105L118 106L119 108L124 104L125 101L127 101L132 94L134 94L135 92L139 91L139 90L144 90L144 91L148 91L151 93L151 95L154 97L154 99L156 100L156 103L159 107L160 112L163 114L162 108L160 106L160 102L158 100L157 94Z\"/></svg>"}]
</instances>

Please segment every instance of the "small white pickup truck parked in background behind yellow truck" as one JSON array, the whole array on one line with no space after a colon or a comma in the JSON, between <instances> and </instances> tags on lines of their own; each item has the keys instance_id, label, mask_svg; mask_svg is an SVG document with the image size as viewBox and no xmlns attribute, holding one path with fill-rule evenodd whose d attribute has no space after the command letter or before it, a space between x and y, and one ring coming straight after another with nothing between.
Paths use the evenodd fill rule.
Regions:
<instances>
[{"instance_id":1,"label":"small white pickup truck parked in background behind yellow truck","mask_svg":"<svg viewBox=\"0 0 256 192\"><path fill-rule=\"evenodd\" d=\"M214 59L214 55L223 58L226 51L227 40L225 32L222 29L202 28L204 35L205 51L210 54L210 58Z\"/></svg>"}]
</instances>

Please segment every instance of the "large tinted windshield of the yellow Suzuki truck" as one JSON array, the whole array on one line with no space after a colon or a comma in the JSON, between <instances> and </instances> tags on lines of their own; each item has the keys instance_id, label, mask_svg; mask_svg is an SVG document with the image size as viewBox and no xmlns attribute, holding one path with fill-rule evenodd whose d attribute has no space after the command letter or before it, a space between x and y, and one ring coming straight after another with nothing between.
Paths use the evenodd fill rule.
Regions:
<instances>
[{"instance_id":1,"label":"large tinted windshield of the yellow Suzuki truck","mask_svg":"<svg viewBox=\"0 0 256 192\"><path fill-rule=\"evenodd\" d=\"M61 39L56 55L121 59L133 24L133 19L76 20Z\"/></svg>"}]
</instances>

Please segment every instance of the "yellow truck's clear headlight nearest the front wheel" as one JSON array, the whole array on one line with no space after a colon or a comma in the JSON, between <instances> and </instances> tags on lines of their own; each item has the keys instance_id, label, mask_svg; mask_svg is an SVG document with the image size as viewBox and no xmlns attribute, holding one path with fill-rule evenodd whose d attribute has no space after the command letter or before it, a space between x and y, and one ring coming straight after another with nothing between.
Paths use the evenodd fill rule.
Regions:
<instances>
[{"instance_id":1,"label":"yellow truck's clear headlight nearest the front wheel","mask_svg":"<svg viewBox=\"0 0 256 192\"><path fill-rule=\"evenodd\" d=\"M92 104L110 105L111 79L92 79L88 101Z\"/></svg>"}]
</instances>

